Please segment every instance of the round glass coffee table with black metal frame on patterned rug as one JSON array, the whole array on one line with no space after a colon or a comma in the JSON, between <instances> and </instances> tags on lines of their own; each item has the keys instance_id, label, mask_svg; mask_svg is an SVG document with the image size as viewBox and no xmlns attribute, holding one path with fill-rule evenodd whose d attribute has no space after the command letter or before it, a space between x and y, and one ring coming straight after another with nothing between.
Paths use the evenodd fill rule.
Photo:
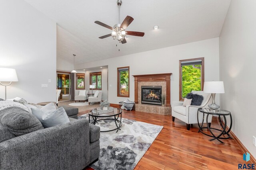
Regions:
<instances>
[{"instance_id":1,"label":"round glass coffee table with black metal frame on patterned rug","mask_svg":"<svg viewBox=\"0 0 256 170\"><path fill-rule=\"evenodd\" d=\"M90 121L90 117L92 117L92 122ZM118 120L120 117L120 120ZM92 109L89 113L89 123L96 124L98 121L104 121L104 120L114 120L116 124L115 129L111 129L108 131L100 131L100 132L110 132L115 131L118 132L118 130L121 130L120 127L122 126L122 110L119 108L114 108L114 111L110 113L98 113L97 109Z\"/></svg>"}]
</instances>

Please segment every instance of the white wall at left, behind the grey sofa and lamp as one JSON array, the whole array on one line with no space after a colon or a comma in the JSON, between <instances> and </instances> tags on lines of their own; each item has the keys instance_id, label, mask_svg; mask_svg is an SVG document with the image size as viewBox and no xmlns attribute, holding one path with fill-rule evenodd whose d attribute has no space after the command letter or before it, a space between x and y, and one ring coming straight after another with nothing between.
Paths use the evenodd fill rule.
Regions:
<instances>
[{"instance_id":1,"label":"white wall at left, behind the grey sofa and lamp","mask_svg":"<svg viewBox=\"0 0 256 170\"><path fill-rule=\"evenodd\" d=\"M0 67L15 68L19 79L7 87L7 98L56 101L56 23L23 0L1 0L0 23Z\"/></svg>"}]
</instances>

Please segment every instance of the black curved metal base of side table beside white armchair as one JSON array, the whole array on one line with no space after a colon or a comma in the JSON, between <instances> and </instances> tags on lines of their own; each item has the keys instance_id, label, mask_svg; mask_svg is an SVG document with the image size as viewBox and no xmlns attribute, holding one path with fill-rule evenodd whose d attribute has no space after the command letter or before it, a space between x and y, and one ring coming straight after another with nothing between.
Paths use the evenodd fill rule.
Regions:
<instances>
[{"instance_id":1,"label":"black curved metal base of side table beside white armchair","mask_svg":"<svg viewBox=\"0 0 256 170\"><path fill-rule=\"evenodd\" d=\"M198 109L198 112L199 112L199 109ZM208 113L203 113L203 119L202 119L202 123L200 125L199 123L199 120L198 120L198 113L197 113L197 121L198 121L198 126L199 126L199 130L198 130L198 133L201 132L203 133L204 135L208 136L208 137L213 137L212 139L209 139L209 141L213 141L213 140L218 140L220 143L224 143L222 142L220 139L232 139L229 132L231 130L231 127L232 127L232 116L231 116L231 113L229 114L230 115L230 128L228 129L228 131L226 131L226 127L227 127L227 121L226 121L226 116L225 115L222 115L224 117L224 124L222 123L222 121L220 121L220 125L222 127L223 130L220 130L220 129L216 129L216 128L213 128L213 127L209 127L209 123L208 123L208 116L209 114ZM206 125L207 127L202 127L203 124L204 124L204 114L207 114L206 116ZM218 115L219 117L219 120L220 120L220 115ZM203 132L203 129L208 129L211 133L211 135L208 135L206 133ZM214 135L214 133L212 133L212 130L216 130L216 131L220 131L221 133L219 135ZM221 137L222 135L228 135L228 137Z\"/></svg>"}]
</instances>

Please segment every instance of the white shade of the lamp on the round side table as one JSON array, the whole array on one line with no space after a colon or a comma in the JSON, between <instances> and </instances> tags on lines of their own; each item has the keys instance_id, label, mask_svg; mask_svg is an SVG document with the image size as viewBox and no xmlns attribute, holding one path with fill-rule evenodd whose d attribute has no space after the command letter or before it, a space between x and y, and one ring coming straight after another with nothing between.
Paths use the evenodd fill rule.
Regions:
<instances>
[{"instance_id":1,"label":"white shade of the lamp on the round side table","mask_svg":"<svg viewBox=\"0 0 256 170\"><path fill-rule=\"evenodd\" d=\"M204 82L204 93L225 93L223 82Z\"/></svg>"}]
</instances>

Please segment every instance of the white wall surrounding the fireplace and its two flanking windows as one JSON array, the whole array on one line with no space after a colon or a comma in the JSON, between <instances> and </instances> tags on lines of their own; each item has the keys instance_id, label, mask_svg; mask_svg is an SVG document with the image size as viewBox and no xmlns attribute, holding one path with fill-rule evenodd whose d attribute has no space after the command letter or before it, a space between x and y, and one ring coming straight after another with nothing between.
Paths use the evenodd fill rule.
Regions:
<instances>
[{"instance_id":1,"label":"white wall surrounding the fireplace and its two flanking windows","mask_svg":"<svg viewBox=\"0 0 256 170\"><path fill-rule=\"evenodd\" d=\"M134 77L140 74L172 73L171 102L179 100L179 60L204 57L205 81L219 80L219 39L207 39L193 43L166 47L122 57L116 57L76 65L76 68L91 68L108 65L108 100L118 104L126 100L117 97L117 68L130 66L130 100L134 100ZM216 96L216 103L219 96Z\"/></svg>"}]
</instances>

